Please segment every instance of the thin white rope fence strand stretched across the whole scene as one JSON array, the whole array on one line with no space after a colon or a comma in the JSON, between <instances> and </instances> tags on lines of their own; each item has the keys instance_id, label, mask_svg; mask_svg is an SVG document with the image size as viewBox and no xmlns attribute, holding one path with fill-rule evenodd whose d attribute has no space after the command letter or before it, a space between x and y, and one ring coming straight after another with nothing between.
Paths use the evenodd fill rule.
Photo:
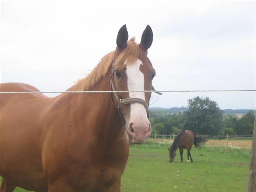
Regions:
<instances>
[{"instance_id":1,"label":"thin white rope fence strand stretched across the whole scene","mask_svg":"<svg viewBox=\"0 0 256 192\"><path fill-rule=\"evenodd\" d=\"M0 94L28 94L28 93L112 93L112 92L242 92L256 91L256 89L248 90L141 90L141 91L7 91Z\"/></svg>"}]
</instances>

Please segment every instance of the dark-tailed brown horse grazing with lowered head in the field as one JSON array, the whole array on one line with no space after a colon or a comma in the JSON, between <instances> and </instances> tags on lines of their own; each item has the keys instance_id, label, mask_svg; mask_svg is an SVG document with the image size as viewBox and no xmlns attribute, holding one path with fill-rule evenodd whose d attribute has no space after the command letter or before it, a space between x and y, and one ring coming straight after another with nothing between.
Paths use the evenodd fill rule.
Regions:
<instances>
[{"instance_id":1,"label":"dark-tailed brown horse grazing with lowered head in the field","mask_svg":"<svg viewBox=\"0 0 256 192\"><path fill-rule=\"evenodd\" d=\"M191 162L193 159L191 158L190 150L192 145L194 144L196 147L200 147L206 142L203 137L194 136L193 132L190 130L182 130L177 137L175 137L172 146L168 148L169 150L169 162L173 162L174 157L176 156L176 150L179 148L180 150L180 161L183 162L183 149L187 149L187 162L189 162L189 156Z\"/></svg>"}]
</instances>

